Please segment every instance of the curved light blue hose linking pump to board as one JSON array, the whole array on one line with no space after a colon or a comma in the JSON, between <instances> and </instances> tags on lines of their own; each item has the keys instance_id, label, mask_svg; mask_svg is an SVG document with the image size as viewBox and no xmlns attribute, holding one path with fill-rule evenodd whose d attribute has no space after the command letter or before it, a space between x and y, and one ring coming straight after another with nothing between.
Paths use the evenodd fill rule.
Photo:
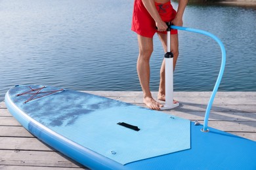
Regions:
<instances>
[{"instance_id":1,"label":"curved light blue hose linking pump to board","mask_svg":"<svg viewBox=\"0 0 256 170\"><path fill-rule=\"evenodd\" d=\"M219 75L218 75L218 78L216 80L215 86L213 88L213 92L211 93L210 100L209 100L207 108L205 110L205 117L204 117L204 122L203 122L202 131L208 131L207 124L208 124L209 114L210 114L210 110L211 110L211 105L213 105L214 97L217 93L217 90L219 88L219 84L221 83L221 78L223 77L223 73L224 73L224 68L225 68L225 64L226 64L226 50L224 48L223 42L221 42L221 40L219 38L217 38L215 35L207 32L207 31L203 31L203 30L200 30L200 29L193 29L193 28L189 28L189 27L179 27L179 26L175 26L175 25L171 25L171 28L207 35L208 37L211 37L216 42L218 42L219 46L221 47L221 54L222 54L221 69L219 71Z\"/></svg>"}]
</instances>

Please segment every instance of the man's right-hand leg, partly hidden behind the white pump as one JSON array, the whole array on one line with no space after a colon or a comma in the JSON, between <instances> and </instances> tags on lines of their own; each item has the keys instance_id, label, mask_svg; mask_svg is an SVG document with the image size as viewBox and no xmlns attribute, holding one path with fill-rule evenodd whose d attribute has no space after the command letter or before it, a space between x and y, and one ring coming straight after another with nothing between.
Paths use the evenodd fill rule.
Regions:
<instances>
[{"instance_id":1,"label":"man's right-hand leg, partly hidden behind the white pump","mask_svg":"<svg viewBox=\"0 0 256 170\"><path fill-rule=\"evenodd\" d=\"M163 50L167 52L167 35L163 33L158 33L158 37L160 38L161 44L163 46ZM175 70L175 65L177 63L177 59L179 56L179 39L178 34L171 35L171 52L173 53L173 71ZM163 63L161 64L160 70L160 86L158 92L158 99L161 101L165 101L165 60L163 59ZM174 101L173 103L177 103Z\"/></svg>"}]
</instances>

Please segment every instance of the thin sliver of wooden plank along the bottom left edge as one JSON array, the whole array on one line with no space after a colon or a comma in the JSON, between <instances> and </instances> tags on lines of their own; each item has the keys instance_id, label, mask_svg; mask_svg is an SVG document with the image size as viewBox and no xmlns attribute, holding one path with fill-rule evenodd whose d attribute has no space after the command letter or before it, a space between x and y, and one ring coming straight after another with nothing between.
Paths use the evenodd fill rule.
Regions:
<instances>
[{"instance_id":1,"label":"thin sliver of wooden plank along the bottom left edge","mask_svg":"<svg viewBox=\"0 0 256 170\"><path fill-rule=\"evenodd\" d=\"M15 165L0 165L1 170L82 170L81 167L39 167L39 166L15 166Z\"/></svg>"}]
</instances>

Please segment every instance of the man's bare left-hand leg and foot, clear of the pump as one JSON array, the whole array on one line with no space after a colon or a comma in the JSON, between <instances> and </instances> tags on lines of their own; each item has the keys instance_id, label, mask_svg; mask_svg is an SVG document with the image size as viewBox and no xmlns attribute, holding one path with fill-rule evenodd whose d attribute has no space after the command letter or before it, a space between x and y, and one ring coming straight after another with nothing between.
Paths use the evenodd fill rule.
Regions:
<instances>
[{"instance_id":1,"label":"man's bare left-hand leg and foot, clear of the pump","mask_svg":"<svg viewBox=\"0 0 256 170\"><path fill-rule=\"evenodd\" d=\"M150 56L153 52L153 39L138 35L138 42L139 57L137 61L137 72L144 94L144 103L150 109L160 110L160 107L163 107L163 105L154 100L150 92Z\"/></svg>"}]
</instances>

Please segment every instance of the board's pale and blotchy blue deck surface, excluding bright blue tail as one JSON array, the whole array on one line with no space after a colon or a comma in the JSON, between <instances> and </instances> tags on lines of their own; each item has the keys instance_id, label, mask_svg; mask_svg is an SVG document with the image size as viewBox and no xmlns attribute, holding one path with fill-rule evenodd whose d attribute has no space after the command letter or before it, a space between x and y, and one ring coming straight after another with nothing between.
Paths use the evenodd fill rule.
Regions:
<instances>
[{"instance_id":1,"label":"board's pale and blotchy blue deck surface, excluding bright blue tail","mask_svg":"<svg viewBox=\"0 0 256 170\"><path fill-rule=\"evenodd\" d=\"M41 87L16 86L9 90L9 96L16 106L43 126L123 165L190 149L189 120L98 95L49 86L34 97L36 91L22 94ZM47 93L49 95L45 95ZM26 128L33 131L34 127Z\"/></svg>"}]
</instances>

